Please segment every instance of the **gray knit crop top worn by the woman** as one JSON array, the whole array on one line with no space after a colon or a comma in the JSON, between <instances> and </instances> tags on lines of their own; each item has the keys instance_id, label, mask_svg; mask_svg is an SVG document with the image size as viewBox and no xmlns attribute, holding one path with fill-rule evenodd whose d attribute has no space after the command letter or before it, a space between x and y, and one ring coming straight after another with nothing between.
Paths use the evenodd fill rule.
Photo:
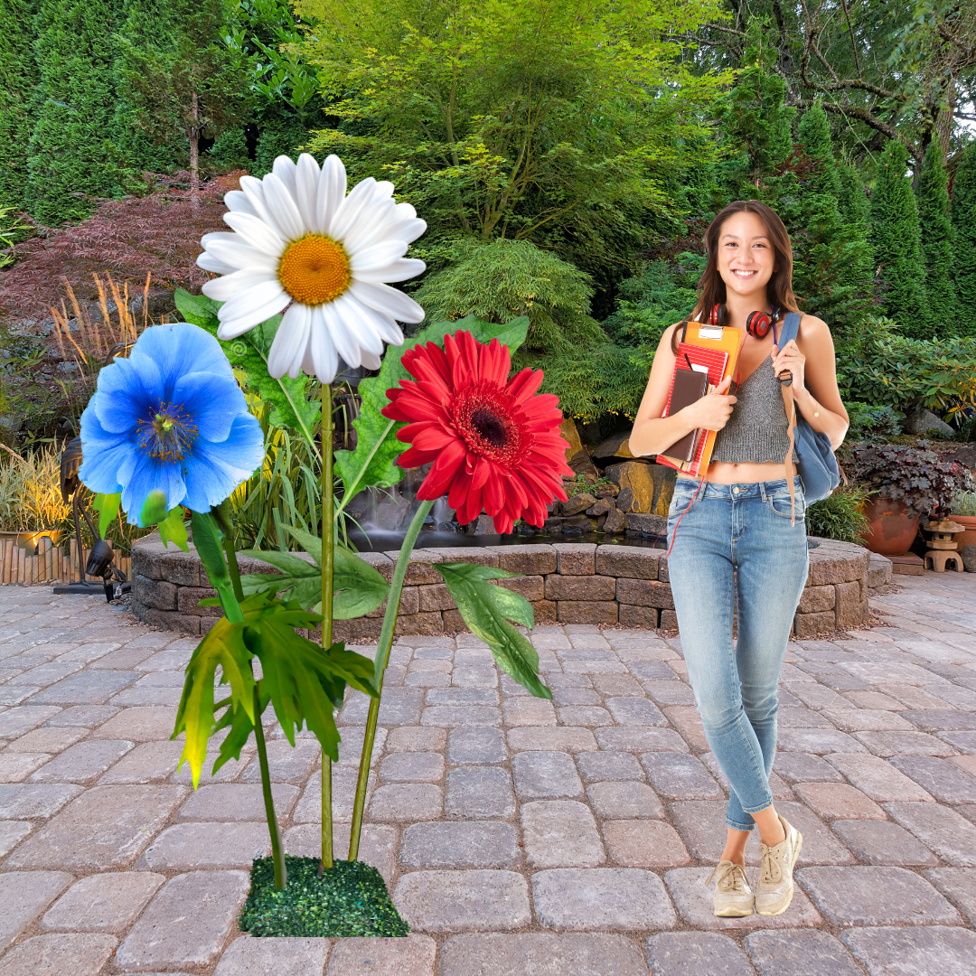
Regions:
<instances>
[{"instance_id":1,"label":"gray knit crop top worn by the woman","mask_svg":"<svg viewBox=\"0 0 976 976\"><path fill-rule=\"evenodd\" d=\"M769 356L739 385L736 396L732 416L715 437L712 461L782 465L790 449L789 425L783 392Z\"/></svg>"}]
</instances>

